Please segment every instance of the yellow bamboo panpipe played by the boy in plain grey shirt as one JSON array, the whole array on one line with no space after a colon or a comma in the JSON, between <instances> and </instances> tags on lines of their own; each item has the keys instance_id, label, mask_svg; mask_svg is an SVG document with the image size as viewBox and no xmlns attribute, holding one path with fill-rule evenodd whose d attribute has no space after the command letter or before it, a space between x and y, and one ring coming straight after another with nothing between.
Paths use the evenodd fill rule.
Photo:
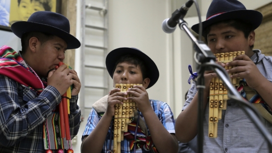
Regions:
<instances>
[{"instance_id":1,"label":"yellow bamboo panpipe played by the boy in plain grey shirt","mask_svg":"<svg viewBox=\"0 0 272 153\"><path fill-rule=\"evenodd\" d=\"M245 51L234 51L215 54L219 62L228 63L233 61L233 58L245 54ZM226 70L232 69L235 66L225 66ZM234 75L229 74L229 76ZM232 78L231 82L234 86L238 86L242 78ZM222 110L226 110L227 106L227 88L219 77L212 78L210 82L209 95L209 127L208 136L210 138L217 138L218 120L222 119Z\"/></svg>"}]
</instances>

